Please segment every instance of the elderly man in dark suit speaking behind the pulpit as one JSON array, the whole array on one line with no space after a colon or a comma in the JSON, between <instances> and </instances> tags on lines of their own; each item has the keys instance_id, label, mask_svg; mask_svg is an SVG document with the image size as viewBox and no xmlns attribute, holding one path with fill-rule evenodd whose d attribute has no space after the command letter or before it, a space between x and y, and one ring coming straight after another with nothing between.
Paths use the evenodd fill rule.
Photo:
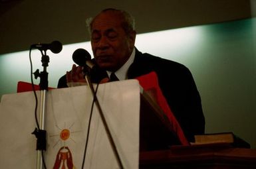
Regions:
<instances>
[{"instance_id":1,"label":"elderly man in dark suit speaking behind the pulpit","mask_svg":"<svg viewBox=\"0 0 256 169\"><path fill-rule=\"evenodd\" d=\"M118 80L137 78L156 72L162 93L180 123L188 141L204 133L205 119L201 99L190 70L171 60L138 51L134 47L134 19L125 11L105 9L89 23L94 62L108 76L114 72ZM91 75L92 79L94 75ZM59 80L58 87L67 82L83 82L82 68L72 70Z\"/></svg>"}]
</instances>

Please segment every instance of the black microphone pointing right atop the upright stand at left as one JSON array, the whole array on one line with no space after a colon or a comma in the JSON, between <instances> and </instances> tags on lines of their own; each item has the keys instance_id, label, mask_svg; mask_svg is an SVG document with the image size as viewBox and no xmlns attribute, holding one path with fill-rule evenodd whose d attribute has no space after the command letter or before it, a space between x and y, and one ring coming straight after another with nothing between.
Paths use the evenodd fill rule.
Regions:
<instances>
[{"instance_id":1,"label":"black microphone pointing right atop the upright stand at left","mask_svg":"<svg viewBox=\"0 0 256 169\"><path fill-rule=\"evenodd\" d=\"M59 52L61 52L61 50L63 50L63 44L61 44L61 42L59 42L58 40L55 40L51 42L51 44L32 44L31 48L37 48L39 50L51 50L51 52L58 54Z\"/></svg>"}]
</instances>

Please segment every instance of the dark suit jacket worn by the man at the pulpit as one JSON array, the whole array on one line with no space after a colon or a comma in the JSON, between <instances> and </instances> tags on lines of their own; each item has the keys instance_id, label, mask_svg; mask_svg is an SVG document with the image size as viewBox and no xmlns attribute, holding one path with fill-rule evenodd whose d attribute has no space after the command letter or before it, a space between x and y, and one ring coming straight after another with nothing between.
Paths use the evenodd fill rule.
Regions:
<instances>
[{"instance_id":1,"label":"dark suit jacket worn by the man at the pulpit","mask_svg":"<svg viewBox=\"0 0 256 169\"><path fill-rule=\"evenodd\" d=\"M147 53L142 54L136 49L134 63L128 70L128 79L133 79L152 71L158 75L162 93L166 97L188 141L194 141L193 135L204 133L205 119L199 92L190 70L177 62ZM58 87L67 87L64 76L59 80Z\"/></svg>"}]
</instances>

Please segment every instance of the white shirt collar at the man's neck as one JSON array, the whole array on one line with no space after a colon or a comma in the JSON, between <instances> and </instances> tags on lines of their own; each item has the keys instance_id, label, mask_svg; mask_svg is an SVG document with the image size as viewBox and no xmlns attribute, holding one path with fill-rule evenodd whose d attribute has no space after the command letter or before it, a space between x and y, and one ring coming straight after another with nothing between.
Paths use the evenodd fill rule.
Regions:
<instances>
[{"instance_id":1,"label":"white shirt collar at the man's neck","mask_svg":"<svg viewBox=\"0 0 256 169\"><path fill-rule=\"evenodd\" d=\"M127 76L128 69L130 68L130 65L134 62L134 58L135 58L135 48L132 50L132 54L130 58L126 61L126 63L120 69L116 70L116 72L114 72L118 80L128 79L128 76ZM106 72L108 73L108 77L110 77L110 74L112 72L110 71L106 71Z\"/></svg>"}]
</instances>

